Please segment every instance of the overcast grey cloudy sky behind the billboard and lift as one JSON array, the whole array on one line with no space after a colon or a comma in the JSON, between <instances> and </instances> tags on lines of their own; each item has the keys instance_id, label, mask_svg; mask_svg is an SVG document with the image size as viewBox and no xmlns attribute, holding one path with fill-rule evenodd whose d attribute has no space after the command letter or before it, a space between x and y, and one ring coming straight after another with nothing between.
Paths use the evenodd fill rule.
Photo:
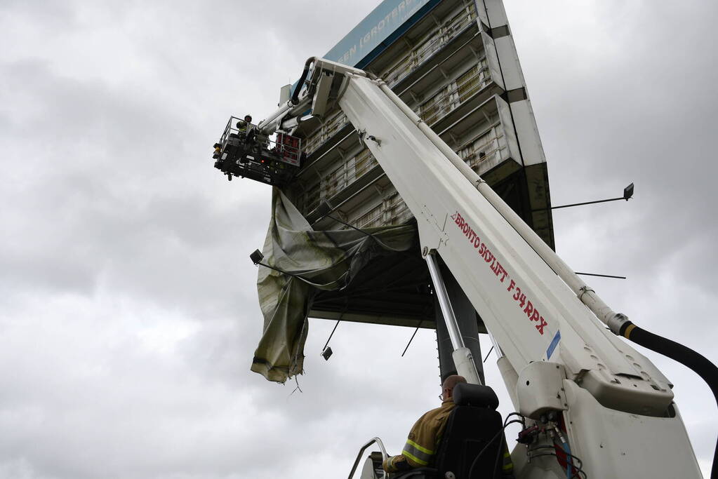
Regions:
<instances>
[{"instance_id":1,"label":"overcast grey cloudy sky behind the billboard and lift","mask_svg":"<svg viewBox=\"0 0 718 479\"><path fill-rule=\"evenodd\" d=\"M270 190L210 158L376 4L0 0L0 478L342 477L437 404L432 331L401 358L411 330L341 324L325 362L312 320L302 392L249 371ZM718 4L505 4L554 204L636 185L555 212L559 254L628 276L589 284L718 361ZM709 389L648 356L707 473Z\"/></svg>"}]
</instances>

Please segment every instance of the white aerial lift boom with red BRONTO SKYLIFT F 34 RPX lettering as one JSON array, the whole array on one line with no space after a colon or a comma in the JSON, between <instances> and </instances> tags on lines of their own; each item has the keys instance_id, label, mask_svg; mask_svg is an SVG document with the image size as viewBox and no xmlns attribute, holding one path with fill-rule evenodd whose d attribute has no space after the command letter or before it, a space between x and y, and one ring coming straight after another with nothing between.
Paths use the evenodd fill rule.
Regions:
<instances>
[{"instance_id":1,"label":"white aerial lift boom with red BRONTO SKYLIFT F 34 RPX lettering","mask_svg":"<svg viewBox=\"0 0 718 479\"><path fill-rule=\"evenodd\" d=\"M292 98L257 129L292 133L335 103L416 217L458 373L479 383L437 255L490 331L516 411L560 422L585 477L701 478L670 381L617 336L689 365L714 392L718 369L607 306L383 80L310 58ZM525 450L512 455L517 478L567 477L555 458L528 462Z\"/></svg>"}]
</instances>

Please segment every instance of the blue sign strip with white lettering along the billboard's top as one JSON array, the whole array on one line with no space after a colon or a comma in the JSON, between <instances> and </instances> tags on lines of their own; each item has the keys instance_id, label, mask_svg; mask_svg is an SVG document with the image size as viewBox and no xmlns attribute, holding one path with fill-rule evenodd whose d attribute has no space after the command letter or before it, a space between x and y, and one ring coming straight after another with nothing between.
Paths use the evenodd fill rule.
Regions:
<instances>
[{"instance_id":1,"label":"blue sign strip with white lettering along the billboard's top","mask_svg":"<svg viewBox=\"0 0 718 479\"><path fill-rule=\"evenodd\" d=\"M362 68L441 0L384 0L325 58Z\"/></svg>"}]
</instances>

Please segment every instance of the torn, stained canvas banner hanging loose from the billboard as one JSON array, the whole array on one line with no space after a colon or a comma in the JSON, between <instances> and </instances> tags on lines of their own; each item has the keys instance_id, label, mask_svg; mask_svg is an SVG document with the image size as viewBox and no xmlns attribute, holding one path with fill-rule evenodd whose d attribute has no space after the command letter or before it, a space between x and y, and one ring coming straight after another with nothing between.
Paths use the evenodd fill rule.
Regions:
<instances>
[{"instance_id":1,"label":"torn, stained canvas banner hanging loose from the billboard","mask_svg":"<svg viewBox=\"0 0 718 479\"><path fill-rule=\"evenodd\" d=\"M307 314L314 295L319 290L345 288L376 257L409 250L416 234L414 224L317 231L274 188L263 262L301 278L259 266L257 290L264 332L251 370L282 383L302 374Z\"/></svg>"}]
</instances>

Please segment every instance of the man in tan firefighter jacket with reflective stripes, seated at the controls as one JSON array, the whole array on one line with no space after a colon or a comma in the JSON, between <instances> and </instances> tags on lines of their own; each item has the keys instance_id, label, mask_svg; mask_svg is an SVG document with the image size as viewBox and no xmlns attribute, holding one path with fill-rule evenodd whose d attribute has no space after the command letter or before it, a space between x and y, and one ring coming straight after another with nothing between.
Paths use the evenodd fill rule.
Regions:
<instances>
[{"instance_id":1,"label":"man in tan firefighter jacket with reflective stripes, seated at the controls","mask_svg":"<svg viewBox=\"0 0 718 479\"><path fill-rule=\"evenodd\" d=\"M409 432L401 454L389 456L384 460L382 467L387 473L401 473L414 468L426 468L434 465L434 456L439 450L449 415L454 409L454 398L452 397L454 386L465 382L464 376L456 374L444 379L441 407L432 409L419 417ZM503 461L505 477L513 478L513 464L508 450L504 453Z\"/></svg>"}]
</instances>

